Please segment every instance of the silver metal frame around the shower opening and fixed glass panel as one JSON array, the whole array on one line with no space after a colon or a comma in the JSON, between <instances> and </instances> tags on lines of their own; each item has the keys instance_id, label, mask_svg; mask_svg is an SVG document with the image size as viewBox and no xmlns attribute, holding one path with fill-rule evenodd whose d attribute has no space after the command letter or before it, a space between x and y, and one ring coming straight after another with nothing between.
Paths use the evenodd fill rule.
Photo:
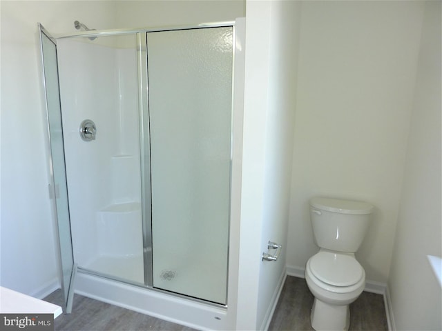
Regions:
<instances>
[{"instance_id":1,"label":"silver metal frame around the shower opening and fixed glass panel","mask_svg":"<svg viewBox=\"0 0 442 331\"><path fill-rule=\"evenodd\" d=\"M232 102L231 102L231 134L230 134L230 192L229 192L229 224L228 224L228 242L227 242L227 293L226 304L213 303L206 299L198 299L195 297L189 297L186 294L180 294L176 292L170 292L155 288L153 286L153 252L152 252L152 217L151 217L151 153L150 153L150 132L148 122L148 63L147 63L147 33L148 32L164 32L164 31L177 31L177 30L195 30L204 28L221 28L231 27L233 29L233 63L232 63ZM88 30L81 31L75 34L61 34L55 37L55 39L69 39L78 37L110 37L119 36L124 34L135 34L137 40L137 81L138 81L138 112L139 112L139 129L140 129L140 170L141 170L141 192L142 192L142 237L143 237L143 261L144 261L144 285L141 283L133 283L128 280L118 279L117 277L106 276L93 270L87 270L78 267L79 272L84 274L91 274L96 277L102 277L105 279L111 279L113 281L122 281L131 285L136 285L140 288L148 288L156 292L162 292L166 294L172 294L175 297L182 297L187 300L202 302L207 305L215 307L227 307L228 293L229 293L229 265L230 265L230 243L231 243L231 195L232 195L232 158L233 158L233 82L235 71L235 52L236 52L236 21L225 21L216 23L201 23L191 26L163 26L157 28L137 28L137 29L117 29L117 30ZM147 138L147 139L146 139Z\"/></svg>"}]
</instances>

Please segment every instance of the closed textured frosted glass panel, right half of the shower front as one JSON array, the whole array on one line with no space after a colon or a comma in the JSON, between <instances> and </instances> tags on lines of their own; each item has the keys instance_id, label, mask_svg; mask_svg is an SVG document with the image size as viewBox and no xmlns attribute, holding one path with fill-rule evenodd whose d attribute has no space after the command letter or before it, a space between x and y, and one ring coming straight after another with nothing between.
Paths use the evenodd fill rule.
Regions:
<instances>
[{"instance_id":1,"label":"closed textured frosted glass panel, right half of the shower front","mask_svg":"<svg viewBox=\"0 0 442 331\"><path fill-rule=\"evenodd\" d=\"M225 304L233 28L147 33L153 287Z\"/></svg>"}]
</instances>

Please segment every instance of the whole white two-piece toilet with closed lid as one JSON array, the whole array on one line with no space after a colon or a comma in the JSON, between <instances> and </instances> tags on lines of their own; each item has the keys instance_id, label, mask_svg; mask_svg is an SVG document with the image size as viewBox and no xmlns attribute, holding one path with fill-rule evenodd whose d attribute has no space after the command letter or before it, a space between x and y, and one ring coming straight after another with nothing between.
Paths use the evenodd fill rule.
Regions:
<instances>
[{"instance_id":1,"label":"whole white two-piece toilet with closed lid","mask_svg":"<svg viewBox=\"0 0 442 331\"><path fill-rule=\"evenodd\" d=\"M374 206L361 201L310 199L314 239L320 250L307 261L305 279L314 295L311 326L348 330L349 304L365 287L365 271L354 253L361 245Z\"/></svg>"}]
</instances>

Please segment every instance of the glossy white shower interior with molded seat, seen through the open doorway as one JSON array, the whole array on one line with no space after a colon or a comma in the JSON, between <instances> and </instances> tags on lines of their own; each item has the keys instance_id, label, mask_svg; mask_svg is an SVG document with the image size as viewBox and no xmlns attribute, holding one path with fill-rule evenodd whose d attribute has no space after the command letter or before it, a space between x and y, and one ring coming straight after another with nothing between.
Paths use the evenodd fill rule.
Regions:
<instances>
[{"instance_id":1,"label":"glossy white shower interior with molded seat, seen through the open doorway","mask_svg":"<svg viewBox=\"0 0 442 331\"><path fill-rule=\"evenodd\" d=\"M59 39L58 57L75 262L144 285L136 36Z\"/></svg>"}]
</instances>

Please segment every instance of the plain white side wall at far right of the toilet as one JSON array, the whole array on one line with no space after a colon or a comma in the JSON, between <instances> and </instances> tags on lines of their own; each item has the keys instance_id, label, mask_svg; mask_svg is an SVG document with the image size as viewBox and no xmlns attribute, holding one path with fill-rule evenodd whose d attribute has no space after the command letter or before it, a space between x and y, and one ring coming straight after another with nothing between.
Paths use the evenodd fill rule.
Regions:
<instances>
[{"instance_id":1,"label":"plain white side wall at far right of the toilet","mask_svg":"<svg viewBox=\"0 0 442 331\"><path fill-rule=\"evenodd\" d=\"M396 330L442 330L441 286L427 254L441 243L441 2L427 1L390 290Z\"/></svg>"}]
</instances>

